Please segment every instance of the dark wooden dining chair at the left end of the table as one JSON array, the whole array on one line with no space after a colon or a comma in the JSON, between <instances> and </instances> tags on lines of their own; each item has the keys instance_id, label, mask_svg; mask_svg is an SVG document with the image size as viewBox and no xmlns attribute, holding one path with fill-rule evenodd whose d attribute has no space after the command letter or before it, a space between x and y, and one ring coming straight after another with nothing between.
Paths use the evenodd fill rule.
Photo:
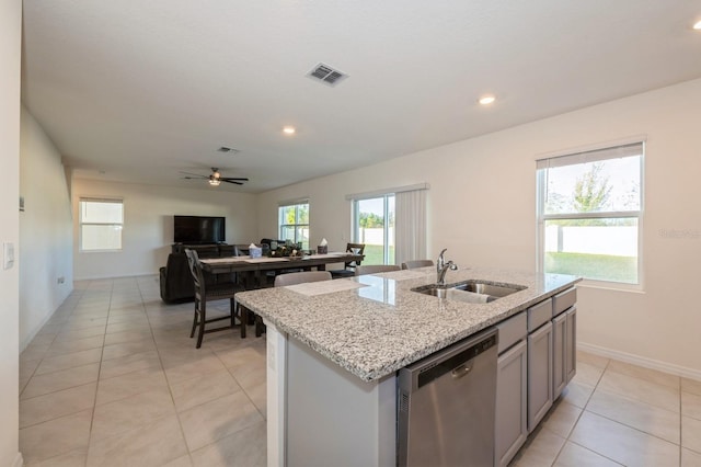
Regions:
<instances>
[{"instance_id":1,"label":"dark wooden dining chair at the left end of the table","mask_svg":"<svg viewBox=\"0 0 701 467\"><path fill-rule=\"evenodd\" d=\"M206 284L197 252L195 250L185 249L185 254L187 255L187 264L195 285L195 317L193 318L193 328L189 332L189 337L193 338L195 335L195 330L197 330L197 344L195 348L199 349L202 346L202 341L205 334L209 332L223 331L226 329L234 328L235 326L241 327L241 338L245 338L245 321L248 319L246 310L243 307L240 307L239 309L234 297L238 292L243 291L243 287L233 282ZM229 298L230 301L229 315L207 319L207 301L221 300L226 298ZM235 324L237 311L240 315L240 324ZM206 329L207 324L223 320L229 320L229 324Z\"/></svg>"}]
</instances>

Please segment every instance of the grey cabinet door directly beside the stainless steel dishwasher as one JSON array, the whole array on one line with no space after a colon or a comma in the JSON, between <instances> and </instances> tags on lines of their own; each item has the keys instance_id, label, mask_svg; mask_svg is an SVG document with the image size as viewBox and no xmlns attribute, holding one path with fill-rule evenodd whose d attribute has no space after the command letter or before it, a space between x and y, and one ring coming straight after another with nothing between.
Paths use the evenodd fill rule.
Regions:
<instances>
[{"instance_id":1,"label":"grey cabinet door directly beside the stainless steel dishwasher","mask_svg":"<svg viewBox=\"0 0 701 467\"><path fill-rule=\"evenodd\" d=\"M502 354L496 374L494 465L507 466L528 436L527 345L522 340Z\"/></svg>"}]
</instances>

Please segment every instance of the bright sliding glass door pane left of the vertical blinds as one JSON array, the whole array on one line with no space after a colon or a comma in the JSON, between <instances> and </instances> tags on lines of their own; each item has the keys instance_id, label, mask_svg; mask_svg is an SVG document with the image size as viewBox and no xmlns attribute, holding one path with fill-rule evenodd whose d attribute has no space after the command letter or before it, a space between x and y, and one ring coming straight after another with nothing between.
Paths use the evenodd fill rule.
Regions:
<instances>
[{"instance_id":1,"label":"bright sliding glass door pane left of the vertical blinds","mask_svg":"<svg viewBox=\"0 0 701 467\"><path fill-rule=\"evenodd\" d=\"M365 243L364 264L394 264L394 194L353 201L354 240Z\"/></svg>"}]
</instances>

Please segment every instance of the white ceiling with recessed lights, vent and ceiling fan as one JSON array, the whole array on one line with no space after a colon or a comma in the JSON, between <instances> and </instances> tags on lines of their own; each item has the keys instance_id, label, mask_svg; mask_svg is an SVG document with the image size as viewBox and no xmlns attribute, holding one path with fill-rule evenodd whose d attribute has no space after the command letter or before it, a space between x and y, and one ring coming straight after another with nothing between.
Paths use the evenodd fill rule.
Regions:
<instances>
[{"instance_id":1,"label":"white ceiling with recessed lights, vent and ceiling fan","mask_svg":"<svg viewBox=\"0 0 701 467\"><path fill-rule=\"evenodd\" d=\"M699 19L701 0L25 0L23 102L76 176L260 192L699 78ZM306 77L319 62L348 78ZM210 167L251 181L182 180Z\"/></svg>"}]
</instances>

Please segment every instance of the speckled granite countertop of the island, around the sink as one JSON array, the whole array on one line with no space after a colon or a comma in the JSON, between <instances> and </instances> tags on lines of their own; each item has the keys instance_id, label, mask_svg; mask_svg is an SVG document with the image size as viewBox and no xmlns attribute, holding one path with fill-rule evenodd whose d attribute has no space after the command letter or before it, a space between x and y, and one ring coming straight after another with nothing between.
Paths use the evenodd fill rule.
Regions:
<instances>
[{"instance_id":1,"label":"speckled granite countertop of the island, around the sink","mask_svg":"<svg viewBox=\"0 0 701 467\"><path fill-rule=\"evenodd\" d=\"M526 286L489 304L412 292L436 282L435 267L264 288L237 299L290 337L371 381L430 355L579 281L564 274L495 269L449 271L446 282L482 280Z\"/></svg>"}]
</instances>

